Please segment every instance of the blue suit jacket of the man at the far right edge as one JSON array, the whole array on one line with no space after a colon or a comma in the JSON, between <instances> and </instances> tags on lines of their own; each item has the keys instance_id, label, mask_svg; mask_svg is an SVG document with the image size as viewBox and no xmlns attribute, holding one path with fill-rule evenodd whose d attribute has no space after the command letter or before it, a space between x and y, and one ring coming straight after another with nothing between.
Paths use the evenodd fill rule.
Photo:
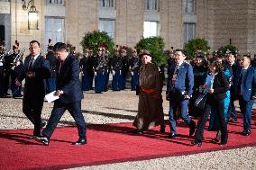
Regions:
<instances>
[{"instance_id":1,"label":"blue suit jacket of the man at the far right edge","mask_svg":"<svg viewBox=\"0 0 256 170\"><path fill-rule=\"evenodd\" d=\"M241 71L242 69L240 70L240 72ZM238 86L239 85L236 85L236 87ZM256 68L255 67L249 67L247 69L243 77L241 88L242 88L242 98L244 101L250 101L252 96L256 96ZM236 92L238 91L239 89L236 90Z\"/></svg>"}]
</instances>

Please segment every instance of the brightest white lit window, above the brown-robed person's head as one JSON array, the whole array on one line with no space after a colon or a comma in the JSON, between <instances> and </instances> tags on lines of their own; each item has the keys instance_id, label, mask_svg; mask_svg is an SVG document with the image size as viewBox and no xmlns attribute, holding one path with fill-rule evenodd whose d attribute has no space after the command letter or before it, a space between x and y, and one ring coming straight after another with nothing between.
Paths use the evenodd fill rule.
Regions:
<instances>
[{"instance_id":1,"label":"brightest white lit window, above the brown-robed person's head","mask_svg":"<svg viewBox=\"0 0 256 170\"><path fill-rule=\"evenodd\" d=\"M158 22L144 22L144 38L155 37L159 35Z\"/></svg>"}]
</instances>

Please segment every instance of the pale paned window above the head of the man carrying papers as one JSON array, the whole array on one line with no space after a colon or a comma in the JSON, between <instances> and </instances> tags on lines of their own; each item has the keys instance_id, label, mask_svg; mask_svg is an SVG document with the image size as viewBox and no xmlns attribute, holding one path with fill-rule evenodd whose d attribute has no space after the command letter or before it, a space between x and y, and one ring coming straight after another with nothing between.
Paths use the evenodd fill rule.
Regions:
<instances>
[{"instance_id":1,"label":"pale paned window above the head of the man carrying papers","mask_svg":"<svg viewBox=\"0 0 256 170\"><path fill-rule=\"evenodd\" d=\"M64 42L64 19L55 17L45 18L44 46L47 47L48 40L52 43Z\"/></svg>"}]
</instances>

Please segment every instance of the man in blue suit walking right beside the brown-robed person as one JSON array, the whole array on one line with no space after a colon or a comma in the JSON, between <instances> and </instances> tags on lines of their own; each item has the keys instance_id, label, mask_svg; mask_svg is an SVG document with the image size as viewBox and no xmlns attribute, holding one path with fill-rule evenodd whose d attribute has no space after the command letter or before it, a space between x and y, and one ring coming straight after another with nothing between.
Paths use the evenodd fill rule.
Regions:
<instances>
[{"instance_id":1,"label":"man in blue suit walking right beside the brown-robed person","mask_svg":"<svg viewBox=\"0 0 256 170\"><path fill-rule=\"evenodd\" d=\"M189 126L189 136L192 136L196 129L195 121L192 121L187 114L188 100L193 93L194 75L193 68L185 62L186 56L181 49L175 51L175 63L169 68L169 84L167 86L167 98L169 98L169 126L170 139L177 138L176 111L180 108L180 117Z\"/></svg>"}]
</instances>

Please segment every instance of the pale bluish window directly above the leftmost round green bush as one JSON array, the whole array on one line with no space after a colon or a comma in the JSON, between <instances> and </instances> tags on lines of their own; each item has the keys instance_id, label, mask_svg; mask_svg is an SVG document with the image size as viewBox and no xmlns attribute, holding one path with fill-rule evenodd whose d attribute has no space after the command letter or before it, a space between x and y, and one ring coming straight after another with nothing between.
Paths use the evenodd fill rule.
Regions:
<instances>
[{"instance_id":1,"label":"pale bluish window directly above the leftmost round green bush","mask_svg":"<svg viewBox=\"0 0 256 170\"><path fill-rule=\"evenodd\" d=\"M107 35L114 38L114 20L100 18L98 22L98 30L105 31Z\"/></svg>"}]
</instances>

